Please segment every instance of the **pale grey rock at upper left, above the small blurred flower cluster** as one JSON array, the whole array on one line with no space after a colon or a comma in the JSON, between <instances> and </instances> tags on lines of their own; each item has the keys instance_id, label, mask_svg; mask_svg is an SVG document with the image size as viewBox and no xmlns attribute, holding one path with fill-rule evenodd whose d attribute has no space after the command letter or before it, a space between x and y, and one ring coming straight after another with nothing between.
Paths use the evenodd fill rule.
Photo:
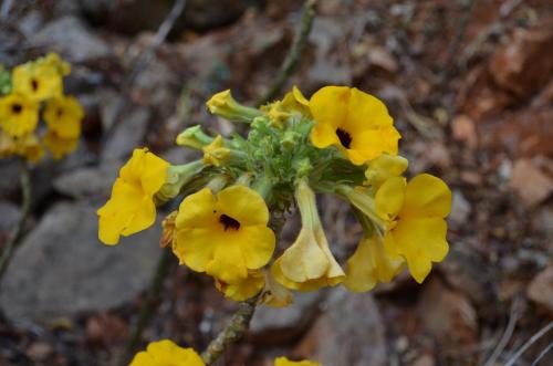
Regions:
<instances>
[{"instance_id":1,"label":"pale grey rock at upper left, above the small blurred flower cluster","mask_svg":"<svg viewBox=\"0 0 553 366\"><path fill-rule=\"evenodd\" d=\"M73 15L48 23L33 35L32 45L56 51L69 62L85 62L112 54L108 44Z\"/></svg>"}]
</instances>

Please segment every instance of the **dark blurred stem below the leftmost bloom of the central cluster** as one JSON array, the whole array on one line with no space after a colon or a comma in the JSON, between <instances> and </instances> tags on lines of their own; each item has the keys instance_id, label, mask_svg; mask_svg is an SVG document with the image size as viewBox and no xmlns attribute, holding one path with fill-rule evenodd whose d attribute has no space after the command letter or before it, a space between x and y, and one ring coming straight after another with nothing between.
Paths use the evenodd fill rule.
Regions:
<instances>
[{"instance_id":1,"label":"dark blurred stem below the leftmost bloom of the central cluster","mask_svg":"<svg viewBox=\"0 0 553 366\"><path fill-rule=\"evenodd\" d=\"M140 307L140 313L138 314L138 320L133 327L131 337L125 346L125 352L117 363L118 366L126 366L131 362L136 347L142 341L142 334L146 326L149 324L152 316L154 315L157 305L159 304L159 297L163 290L164 279L169 272L173 261L173 252L168 249L163 250L163 253L157 262L157 269L154 278L148 287L148 293Z\"/></svg>"}]
</instances>

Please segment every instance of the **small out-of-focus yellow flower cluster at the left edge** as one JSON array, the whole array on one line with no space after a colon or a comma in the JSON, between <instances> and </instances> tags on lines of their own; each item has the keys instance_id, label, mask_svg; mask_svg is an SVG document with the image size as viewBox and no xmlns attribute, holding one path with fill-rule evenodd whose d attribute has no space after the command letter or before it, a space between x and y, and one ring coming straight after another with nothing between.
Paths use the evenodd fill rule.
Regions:
<instances>
[{"instance_id":1,"label":"small out-of-focus yellow flower cluster at the left edge","mask_svg":"<svg viewBox=\"0 0 553 366\"><path fill-rule=\"evenodd\" d=\"M54 159L76 148L84 112L75 97L63 95L63 76L70 72L55 53L13 67L9 92L0 96L0 157L36 163L44 147ZM45 132L38 130L41 109Z\"/></svg>"}]
</instances>

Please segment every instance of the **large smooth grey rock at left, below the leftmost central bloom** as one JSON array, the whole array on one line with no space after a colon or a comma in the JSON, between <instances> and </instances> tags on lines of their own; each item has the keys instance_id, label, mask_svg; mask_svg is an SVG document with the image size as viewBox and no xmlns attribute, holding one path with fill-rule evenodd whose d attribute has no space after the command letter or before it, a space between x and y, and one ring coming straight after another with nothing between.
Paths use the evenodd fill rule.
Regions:
<instances>
[{"instance_id":1,"label":"large smooth grey rock at left, below the leftmost central bloom","mask_svg":"<svg viewBox=\"0 0 553 366\"><path fill-rule=\"evenodd\" d=\"M96 239L95 211L63 202L44 215L2 278L0 307L8 318L51 324L121 306L147 286L160 253L159 226L107 247Z\"/></svg>"}]
</instances>

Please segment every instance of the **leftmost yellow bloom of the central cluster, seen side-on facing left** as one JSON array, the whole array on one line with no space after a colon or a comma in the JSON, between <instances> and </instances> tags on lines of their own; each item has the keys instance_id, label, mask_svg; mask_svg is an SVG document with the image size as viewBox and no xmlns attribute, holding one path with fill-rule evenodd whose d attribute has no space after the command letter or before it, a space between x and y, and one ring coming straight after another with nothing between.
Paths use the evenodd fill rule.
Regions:
<instances>
[{"instance_id":1,"label":"leftmost yellow bloom of the central cluster, seen side-on facing left","mask_svg":"<svg viewBox=\"0 0 553 366\"><path fill-rule=\"evenodd\" d=\"M154 195L167 177L169 164L148 151L135 149L121 168L112 197L97 211L98 238L105 244L117 244L119 236L145 230L156 220Z\"/></svg>"}]
</instances>

